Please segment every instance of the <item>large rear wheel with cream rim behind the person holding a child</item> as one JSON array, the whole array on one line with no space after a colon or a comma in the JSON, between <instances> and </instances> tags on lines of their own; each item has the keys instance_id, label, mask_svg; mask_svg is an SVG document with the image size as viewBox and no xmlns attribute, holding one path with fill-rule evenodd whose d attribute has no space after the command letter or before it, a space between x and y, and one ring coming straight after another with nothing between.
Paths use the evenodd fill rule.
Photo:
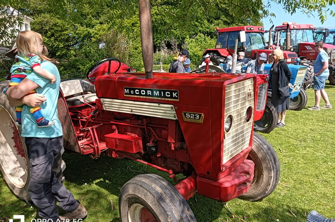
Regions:
<instances>
[{"instance_id":1,"label":"large rear wheel with cream rim behind the person holding a child","mask_svg":"<svg viewBox=\"0 0 335 222\"><path fill-rule=\"evenodd\" d=\"M15 109L3 93L8 83L0 82L0 171L11 192L29 203L29 159L26 145L20 136L21 126L15 124Z\"/></svg>"}]
</instances>

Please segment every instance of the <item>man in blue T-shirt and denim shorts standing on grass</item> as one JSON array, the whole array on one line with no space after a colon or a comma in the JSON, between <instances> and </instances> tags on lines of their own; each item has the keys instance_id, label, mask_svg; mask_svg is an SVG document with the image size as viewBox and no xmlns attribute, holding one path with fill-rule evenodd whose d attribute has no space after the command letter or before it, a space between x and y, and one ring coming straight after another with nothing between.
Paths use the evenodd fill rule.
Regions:
<instances>
[{"instance_id":1,"label":"man in blue T-shirt and denim shorts standing on grass","mask_svg":"<svg viewBox=\"0 0 335 222\"><path fill-rule=\"evenodd\" d=\"M321 109L331 109L331 105L329 103L328 95L324 90L325 81L329 76L328 70L328 54L323 50L323 42L317 41L315 42L315 51L318 52L315 63L314 63L314 94L315 94L315 105L313 107L308 108L308 110L320 110L320 98L325 102L325 106L321 107Z\"/></svg>"}]
</instances>

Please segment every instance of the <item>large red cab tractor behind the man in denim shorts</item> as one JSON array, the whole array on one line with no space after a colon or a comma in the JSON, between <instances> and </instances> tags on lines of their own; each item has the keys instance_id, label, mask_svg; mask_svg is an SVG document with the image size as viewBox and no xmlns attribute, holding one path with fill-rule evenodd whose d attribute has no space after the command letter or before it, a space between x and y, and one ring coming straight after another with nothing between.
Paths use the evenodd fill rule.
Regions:
<instances>
[{"instance_id":1,"label":"large red cab tractor behind the man in denim shorts","mask_svg":"<svg viewBox=\"0 0 335 222\"><path fill-rule=\"evenodd\" d=\"M298 54L300 64L308 67L303 88L306 90L313 84L313 63L317 52L315 45L315 26L312 24L296 24L295 22L283 22L274 28L273 43L283 50L290 50ZM322 40L322 39L321 39ZM328 53L329 83L335 85L335 45L325 43L323 49Z\"/></svg>"}]
</instances>

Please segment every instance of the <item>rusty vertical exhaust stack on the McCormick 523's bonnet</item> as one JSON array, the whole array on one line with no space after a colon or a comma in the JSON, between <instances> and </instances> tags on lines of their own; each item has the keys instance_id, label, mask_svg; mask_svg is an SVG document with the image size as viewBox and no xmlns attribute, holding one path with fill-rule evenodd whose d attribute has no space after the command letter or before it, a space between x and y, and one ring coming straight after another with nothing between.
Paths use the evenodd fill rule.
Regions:
<instances>
[{"instance_id":1,"label":"rusty vertical exhaust stack on the McCormick 523's bonnet","mask_svg":"<svg viewBox=\"0 0 335 222\"><path fill-rule=\"evenodd\" d=\"M142 58L145 68L145 78L149 79L152 78L152 67L154 63L150 0L140 0L139 8Z\"/></svg>"}]
</instances>

